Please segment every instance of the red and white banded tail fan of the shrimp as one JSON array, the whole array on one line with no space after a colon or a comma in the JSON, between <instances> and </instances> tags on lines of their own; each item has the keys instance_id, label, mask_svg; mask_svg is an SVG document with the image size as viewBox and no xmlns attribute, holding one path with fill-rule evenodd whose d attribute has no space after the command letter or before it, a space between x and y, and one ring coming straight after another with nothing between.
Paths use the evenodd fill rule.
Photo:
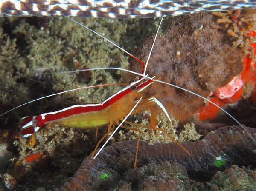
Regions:
<instances>
[{"instance_id":1,"label":"red and white banded tail fan of the shrimp","mask_svg":"<svg viewBox=\"0 0 256 191\"><path fill-rule=\"evenodd\" d=\"M29 137L44 125L44 121L38 120L37 118L36 116L26 116L20 119L20 134L23 137Z\"/></svg>"}]
</instances>

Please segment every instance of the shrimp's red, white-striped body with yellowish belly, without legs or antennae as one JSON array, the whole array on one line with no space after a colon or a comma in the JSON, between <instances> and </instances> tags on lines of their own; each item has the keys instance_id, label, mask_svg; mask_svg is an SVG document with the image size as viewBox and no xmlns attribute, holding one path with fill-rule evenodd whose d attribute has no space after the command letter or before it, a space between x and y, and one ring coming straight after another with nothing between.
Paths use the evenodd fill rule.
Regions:
<instances>
[{"instance_id":1,"label":"shrimp's red, white-striped body with yellowish belly, without legs or antennae","mask_svg":"<svg viewBox=\"0 0 256 191\"><path fill-rule=\"evenodd\" d=\"M142 82L144 80L144 82ZM43 125L67 125L75 128L96 128L126 116L136 104L136 97L154 80L141 78L116 92L102 103L73 105L62 110L27 116L20 120L20 133L29 137ZM154 102L154 101L153 101ZM145 107L146 109L147 107ZM144 109L144 110L145 110ZM143 110L143 111L144 111Z\"/></svg>"}]
</instances>

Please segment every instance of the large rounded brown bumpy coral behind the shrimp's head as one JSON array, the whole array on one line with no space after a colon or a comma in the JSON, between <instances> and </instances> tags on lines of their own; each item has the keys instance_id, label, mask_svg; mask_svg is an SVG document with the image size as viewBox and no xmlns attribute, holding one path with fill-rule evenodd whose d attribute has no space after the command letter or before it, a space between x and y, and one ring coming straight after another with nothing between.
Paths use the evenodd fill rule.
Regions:
<instances>
[{"instance_id":1,"label":"large rounded brown bumpy coral behind the shrimp's head","mask_svg":"<svg viewBox=\"0 0 256 191\"><path fill-rule=\"evenodd\" d=\"M142 47L134 51L144 63L154 36L148 37ZM147 74L207 97L243 70L243 53L232 45L234 40L236 38L227 34L227 29L218 25L212 14L175 18L166 34L157 37ZM141 65L131 59L129 69L141 72ZM128 80L134 79L128 76ZM200 97L161 83L154 83L144 94L146 97L156 95L181 123L204 103ZM161 112L157 106L154 109Z\"/></svg>"}]
</instances>

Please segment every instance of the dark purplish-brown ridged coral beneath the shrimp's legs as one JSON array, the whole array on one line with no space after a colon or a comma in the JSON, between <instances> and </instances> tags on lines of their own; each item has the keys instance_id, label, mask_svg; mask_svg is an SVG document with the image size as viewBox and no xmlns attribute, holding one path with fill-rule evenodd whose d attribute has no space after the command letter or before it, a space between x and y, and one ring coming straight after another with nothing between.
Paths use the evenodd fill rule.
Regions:
<instances>
[{"instance_id":1,"label":"dark purplish-brown ridged coral beneath the shrimp's legs","mask_svg":"<svg viewBox=\"0 0 256 191\"><path fill-rule=\"evenodd\" d=\"M74 177L59 188L59 191L177 191L195 187L207 190L211 188L210 185L195 181L210 180L216 171L234 164L256 167L256 129L245 128L250 135L240 126L228 126L209 133L203 140L181 143L191 156L173 143L148 145L141 141L137 168L133 168L137 141L114 143L104 148L96 160L87 157ZM216 165L216 160L220 158L224 162ZM244 176L239 177L239 181L247 178L250 183L255 179L255 173L249 170L246 171L249 174L247 177L244 169L231 167L226 171L215 174L209 184L215 184L217 189L218 186L221 187L221 181L235 180L234 176L239 175L232 176L231 171L238 171ZM102 176L105 174L108 174L107 178Z\"/></svg>"}]
</instances>

